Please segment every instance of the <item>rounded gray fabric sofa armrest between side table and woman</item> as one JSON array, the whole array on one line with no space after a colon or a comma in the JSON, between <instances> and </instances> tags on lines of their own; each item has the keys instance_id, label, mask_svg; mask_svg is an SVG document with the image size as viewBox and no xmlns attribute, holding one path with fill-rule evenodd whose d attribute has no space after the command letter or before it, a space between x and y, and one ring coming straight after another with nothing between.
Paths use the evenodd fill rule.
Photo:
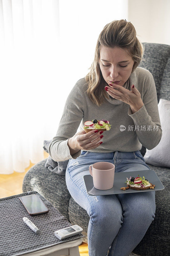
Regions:
<instances>
[{"instance_id":1,"label":"rounded gray fabric sofa armrest between side table and woman","mask_svg":"<svg viewBox=\"0 0 170 256\"><path fill-rule=\"evenodd\" d=\"M50 172L45 167L46 161L47 158L29 169L23 180L22 191L37 191L70 222L68 215L70 193L66 186L65 176Z\"/></svg>"}]
</instances>

